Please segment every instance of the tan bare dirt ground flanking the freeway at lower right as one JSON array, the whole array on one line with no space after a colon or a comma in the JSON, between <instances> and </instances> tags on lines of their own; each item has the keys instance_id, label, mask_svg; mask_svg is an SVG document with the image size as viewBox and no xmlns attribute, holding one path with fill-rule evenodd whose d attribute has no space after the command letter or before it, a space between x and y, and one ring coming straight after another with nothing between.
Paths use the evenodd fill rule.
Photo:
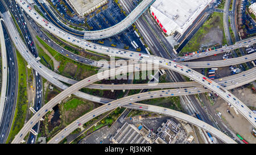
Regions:
<instances>
[{"instance_id":1,"label":"tan bare dirt ground flanking the freeway at lower right","mask_svg":"<svg viewBox=\"0 0 256 155\"><path fill-rule=\"evenodd\" d=\"M236 97L238 97L246 106L256 107L256 95L248 88L238 88L234 89L232 92ZM247 119L245 119L241 114L236 114L233 108L228 106L223 99L218 98L214 107L217 111L222 114L222 122L228 124L234 132L238 133L245 139L248 143L256 144L256 139L251 135L251 130L253 125L251 125ZM230 114L226 111L229 110ZM234 118L233 118L234 117Z\"/></svg>"}]
</instances>

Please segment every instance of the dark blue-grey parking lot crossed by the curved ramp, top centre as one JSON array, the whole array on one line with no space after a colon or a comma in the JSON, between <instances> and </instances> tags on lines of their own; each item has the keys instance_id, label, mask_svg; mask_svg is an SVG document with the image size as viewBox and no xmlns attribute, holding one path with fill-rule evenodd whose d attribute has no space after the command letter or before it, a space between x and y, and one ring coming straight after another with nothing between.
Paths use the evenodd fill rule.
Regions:
<instances>
[{"instance_id":1,"label":"dark blue-grey parking lot crossed by the curved ramp, top centre","mask_svg":"<svg viewBox=\"0 0 256 155\"><path fill-rule=\"evenodd\" d=\"M106 9L100 7L99 11L94 11L92 14L86 16L87 23L92 27L91 31L102 30L108 27L112 27L115 24L121 22L125 19L125 15L121 13L118 5L114 3L113 0L110 0L108 4L105 5ZM98 12L98 13L97 13ZM93 15L94 14L94 15ZM118 33L118 35L109 37L102 40L92 40L93 43L101 44L98 41L104 41L105 46L124 49L124 47L129 46L130 51L136 51L136 49L131 44L131 41L135 41L138 44L138 48L141 48L142 53L146 53L144 45L139 40L139 37L134 33L133 26L130 26L125 31Z\"/></svg>"}]
</instances>

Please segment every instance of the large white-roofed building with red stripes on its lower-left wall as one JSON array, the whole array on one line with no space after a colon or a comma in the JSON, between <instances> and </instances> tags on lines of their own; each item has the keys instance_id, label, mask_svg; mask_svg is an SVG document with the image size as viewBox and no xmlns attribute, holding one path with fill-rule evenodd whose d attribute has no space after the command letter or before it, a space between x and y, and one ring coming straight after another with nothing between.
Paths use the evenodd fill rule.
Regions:
<instances>
[{"instance_id":1,"label":"large white-roofed building with red stripes on its lower-left wall","mask_svg":"<svg viewBox=\"0 0 256 155\"><path fill-rule=\"evenodd\" d=\"M181 35L213 0L156 0L151 15L167 35Z\"/></svg>"}]
</instances>

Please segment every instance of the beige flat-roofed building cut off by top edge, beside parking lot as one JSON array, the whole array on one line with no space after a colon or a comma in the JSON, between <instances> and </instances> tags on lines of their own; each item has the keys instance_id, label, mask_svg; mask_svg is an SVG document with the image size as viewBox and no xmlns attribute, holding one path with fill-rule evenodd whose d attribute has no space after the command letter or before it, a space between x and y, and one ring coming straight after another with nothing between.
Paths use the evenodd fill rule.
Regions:
<instances>
[{"instance_id":1,"label":"beige flat-roofed building cut off by top edge, beside parking lot","mask_svg":"<svg viewBox=\"0 0 256 155\"><path fill-rule=\"evenodd\" d=\"M108 3L108 0L68 0L67 2L75 9L78 15L84 16L95 11L98 7L104 6Z\"/></svg>"}]
</instances>

